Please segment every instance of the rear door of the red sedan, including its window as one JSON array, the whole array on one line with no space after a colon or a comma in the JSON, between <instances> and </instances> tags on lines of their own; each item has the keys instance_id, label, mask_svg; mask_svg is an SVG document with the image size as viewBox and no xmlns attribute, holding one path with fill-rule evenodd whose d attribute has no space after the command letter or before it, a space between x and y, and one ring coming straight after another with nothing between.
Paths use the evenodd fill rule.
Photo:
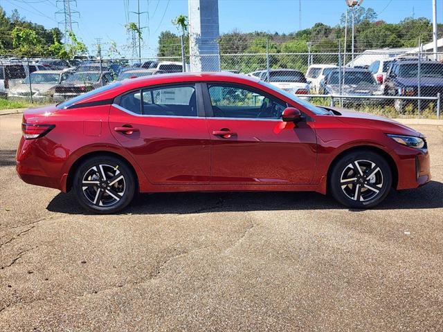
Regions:
<instances>
[{"instance_id":1,"label":"rear door of the red sedan, including its window","mask_svg":"<svg viewBox=\"0 0 443 332\"><path fill-rule=\"evenodd\" d=\"M109 127L154 184L204 184L210 138L199 84L147 87L114 100Z\"/></svg>"}]
</instances>

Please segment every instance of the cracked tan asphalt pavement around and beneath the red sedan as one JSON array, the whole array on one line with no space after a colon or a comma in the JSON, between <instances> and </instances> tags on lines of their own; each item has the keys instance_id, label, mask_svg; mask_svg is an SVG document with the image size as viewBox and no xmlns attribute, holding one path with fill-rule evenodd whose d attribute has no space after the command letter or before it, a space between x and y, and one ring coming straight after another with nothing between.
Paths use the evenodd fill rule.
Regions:
<instances>
[{"instance_id":1,"label":"cracked tan asphalt pavement around and beneath the red sedan","mask_svg":"<svg viewBox=\"0 0 443 332\"><path fill-rule=\"evenodd\" d=\"M443 331L443 126L433 181L352 211L316 193L143 194L87 214L15 173L0 116L0 331Z\"/></svg>"}]
</instances>

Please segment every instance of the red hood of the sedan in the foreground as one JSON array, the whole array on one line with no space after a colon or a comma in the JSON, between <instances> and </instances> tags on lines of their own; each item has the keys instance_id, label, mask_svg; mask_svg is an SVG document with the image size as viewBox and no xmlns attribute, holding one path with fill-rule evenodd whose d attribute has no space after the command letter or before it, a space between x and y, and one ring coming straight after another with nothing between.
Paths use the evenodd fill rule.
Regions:
<instances>
[{"instance_id":1,"label":"red hood of the sedan in the foreground","mask_svg":"<svg viewBox=\"0 0 443 332\"><path fill-rule=\"evenodd\" d=\"M359 124L363 127L379 129L384 133L395 133L397 135L408 135L423 137L422 133L401 124L395 120L385 118L383 116L374 116L373 114L351 111L349 109L341 109L339 107L324 107L334 111L337 119L348 124Z\"/></svg>"}]
</instances>

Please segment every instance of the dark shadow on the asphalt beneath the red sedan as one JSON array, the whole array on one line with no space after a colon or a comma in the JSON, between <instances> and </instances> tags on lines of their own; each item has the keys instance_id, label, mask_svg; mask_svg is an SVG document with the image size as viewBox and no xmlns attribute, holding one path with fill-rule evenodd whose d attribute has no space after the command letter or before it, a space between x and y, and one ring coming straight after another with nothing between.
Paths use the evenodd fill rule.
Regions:
<instances>
[{"instance_id":1,"label":"dark shadow on the asphalt beneath the red sedan","mask_svg":"<svg viewBox=\"0 0 443 332\"><path fill-rule=\"evenodd\" d=\"M415 190L391 190L375 210L443 208L443 183L431 181ZM78 205L73 192L60 193L48 204L52 212L93 214ZM176 192L139 194L121 214L192 214L276 210L343 209L330 196L315 192ZM363 210L350 210L361 212Z\"/></svg>"}]
</instances>

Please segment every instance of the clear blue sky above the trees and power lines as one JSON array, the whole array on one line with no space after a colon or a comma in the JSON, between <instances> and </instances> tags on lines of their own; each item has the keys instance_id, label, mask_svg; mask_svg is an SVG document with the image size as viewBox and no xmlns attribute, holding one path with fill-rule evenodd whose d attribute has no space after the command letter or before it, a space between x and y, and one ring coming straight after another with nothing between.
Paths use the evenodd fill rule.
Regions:
<instances>
[{"instance_id":1,"label":"clear blue sky above the trees and power lines","mask_svg":"<svg viewBox=\"0 0 443 332\"><path fill-rule=\"evenodd\" d=\"M137 11L136 0L77 0L80 17L74 31L92 51L101 37L107 44L115 41L122 53L127 44L125 24L125 2L129 2L129 11ZM145 46L142 56L155 55L159 33L162 30L177 32L171 21L181 14L188 14L188 0L140 0L141 11L149 11L141 16L144 29ZM55 16L56 0L0 0L0 6L10 14L17 8L20 14L30 21L47 28L57 26L62 17ZM364 0L365 8L371 7L379 14L379 19L395 23L410 17L414 10L415 17L432 17L431 0ZM60 10L60 9L59 9ZM344 0L302 0L302 28L308 28L316 22L336 25L341 13L345 11ZM129 14L129 21L136 21L136 15ZM220 32L226 33L237 28L243 32L262 30L267 32L290 33L298 30L298 0L219 0ZM443 0L437 0L437 21L443 22ZM91 52L93 53L93 52Z\"/></svg>"}]
</instances>

